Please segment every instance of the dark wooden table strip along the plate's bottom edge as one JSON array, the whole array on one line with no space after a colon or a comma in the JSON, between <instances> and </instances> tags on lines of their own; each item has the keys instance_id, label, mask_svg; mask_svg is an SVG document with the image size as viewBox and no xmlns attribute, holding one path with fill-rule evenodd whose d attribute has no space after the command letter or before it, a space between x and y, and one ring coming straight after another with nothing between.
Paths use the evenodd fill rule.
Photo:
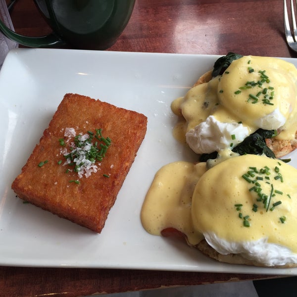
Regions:
<instances>
[{"instance_id":1,"label":"dark wooden table strip along the plate's bottom edge","mask_svg":"<svg viewBox=\"0 0 297 297\"><path fill-rule=\"evenodd\" d=\"M265 278L268 276L147 270L0 267L0 296L77 297Z\"/></svg>"}]
</instances>

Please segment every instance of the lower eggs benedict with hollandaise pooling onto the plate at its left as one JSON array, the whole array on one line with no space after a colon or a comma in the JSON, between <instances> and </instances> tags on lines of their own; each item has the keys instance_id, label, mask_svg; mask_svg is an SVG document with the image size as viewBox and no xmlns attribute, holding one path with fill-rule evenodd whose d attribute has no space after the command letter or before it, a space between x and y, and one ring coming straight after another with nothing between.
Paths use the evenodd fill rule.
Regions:
<instances>
[{"instance_id":1,"label":"lower eggs benedict with hollandaise pooling onto the plate at its left","mask_svg":"<svg viewBox=\"0 0 297 297\"><path fill-rule=\"evenodd\" d=\"M297 266L297 169L252 154L208 170L171 163L157 172L141 219L150 234L177 230L223 262Z\"/></svg>"}]
</instances>

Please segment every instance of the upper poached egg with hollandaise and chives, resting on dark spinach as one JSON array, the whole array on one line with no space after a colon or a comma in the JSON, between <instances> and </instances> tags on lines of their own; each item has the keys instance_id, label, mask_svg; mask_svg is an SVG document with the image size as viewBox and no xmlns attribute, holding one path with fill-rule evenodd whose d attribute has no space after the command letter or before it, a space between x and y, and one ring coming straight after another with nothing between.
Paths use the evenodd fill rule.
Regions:
<instances>
[{"instance_id":1,"label":"upper poached egg with hollandaise and chives, resting on dark spinach","mask_svg":"<svg viewBox=\"0 0 297 297\"><path fill-rule=\"evenodd\" d=\"M185 118L186 141L197 153L232 148L257 129L294 139L297 69L281 59L244 56L223 75L192 88L172 103Z\"/></svg>"}]
</instances>

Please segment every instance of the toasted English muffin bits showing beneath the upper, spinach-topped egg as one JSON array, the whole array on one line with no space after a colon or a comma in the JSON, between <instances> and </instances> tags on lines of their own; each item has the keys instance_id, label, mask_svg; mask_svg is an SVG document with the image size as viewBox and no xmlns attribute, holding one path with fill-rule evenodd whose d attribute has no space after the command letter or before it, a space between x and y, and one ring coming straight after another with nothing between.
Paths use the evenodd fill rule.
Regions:
<instances>
[{"instance_id":1,"label":"toasted English muffin bits showing beneath the upper, spinach-topped egg","mask_svg":"<svg viewBox=\"0 0 297 297\"><path fill-rule=\"evenodd\" d=\"M193 87L209 82L212 78L211 73L212 71L210 70L202 74ZM274 152L276 158L281 158L297 148L297 132L295 134L295 139L293 140L279 140L275 138L270 138L266 139L265 141L267 147Z\"/></svg>"}]
</instances>

